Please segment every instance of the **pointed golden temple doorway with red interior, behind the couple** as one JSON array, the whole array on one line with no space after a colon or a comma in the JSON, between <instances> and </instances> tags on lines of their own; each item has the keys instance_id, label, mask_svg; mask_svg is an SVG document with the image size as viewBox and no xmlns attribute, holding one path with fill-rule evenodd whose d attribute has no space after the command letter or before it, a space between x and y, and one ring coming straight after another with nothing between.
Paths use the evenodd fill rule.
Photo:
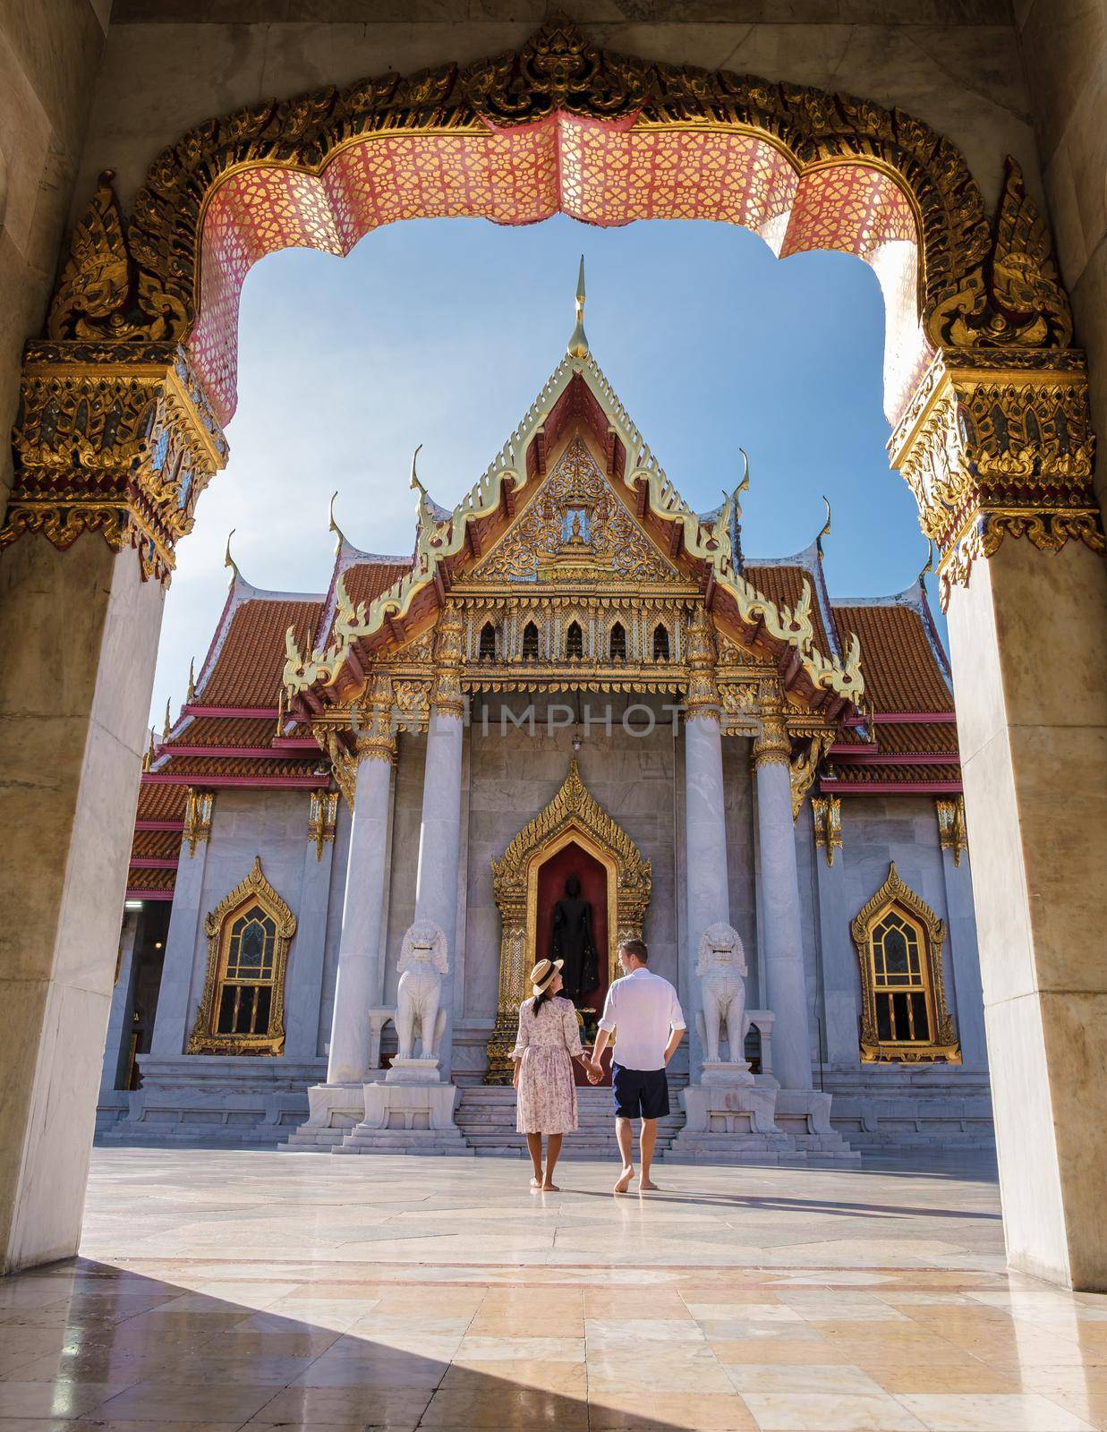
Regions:
<instances>
[{"instance_id":1,"label":"pointed golden temple doorway with red interior, behind the couple","mask_svg":"<svg viewBox=\"0 0 1107 1432\"><path fill-rule=\"evenodd\" d=\"M518 1007L537 959L554 949L554 914L576 875L590 911L596 952L596 984L574 1002L594 1032L607 987L617 974L616 949L623 937L642 935L650 901L650 862L607 815L580 779L576 758L553 800L493 861L493 888L500 906L500 995L496 1028L488 1040L487 1084L511 1083L510 1051L516 1042ZM570 912L573 914L573 912ZM561 925L561 941L566 941ZM577 1071L577 1083L586 1083Z\"/></svg>"}]
</instances>

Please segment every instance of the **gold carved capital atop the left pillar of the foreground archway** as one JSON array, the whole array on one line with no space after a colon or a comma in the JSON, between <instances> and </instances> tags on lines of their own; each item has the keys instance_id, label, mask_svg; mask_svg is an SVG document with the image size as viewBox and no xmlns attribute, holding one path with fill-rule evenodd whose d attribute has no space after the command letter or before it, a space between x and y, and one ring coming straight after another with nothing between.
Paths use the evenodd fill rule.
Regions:
<instances>
[{"instance_id":1,"label":"gold carved capital atop the left pillar of the foreground archway","mask_svg":"<svg viewBox=\"0 0 1107 1432\"><path fill-rule=\"evenodd\" d=\"M0 548L42 533L66 550L97 531L169 580L226 440L176 344L39 342L23 364L14 483Z\"/></svg>"}]
</instances>

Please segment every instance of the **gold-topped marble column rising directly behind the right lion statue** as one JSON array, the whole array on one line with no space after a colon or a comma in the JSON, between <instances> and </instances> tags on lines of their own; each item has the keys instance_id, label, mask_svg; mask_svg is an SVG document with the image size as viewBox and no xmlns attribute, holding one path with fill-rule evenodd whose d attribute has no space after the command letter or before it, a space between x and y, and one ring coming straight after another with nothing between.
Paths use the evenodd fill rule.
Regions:
<instances>
[{"instance_id":1,"label":"gold-topped marble column rising directly behind the right lion statue","mask_svg":"<svg viewBox=\"0 0 1107 1432\"><path fill-rule=\"evenodd\" d=\"M685 720L685 891L686 939L682 942L680 984L686 991L689 1080L703 1071L703 1047L696 1028L700 1008L696 958L709 925L730 924L726 875L726 806L723 799L723 737L715 684L715 644L707 614L699 607L689 623L687 660L692 669ZM740 1060L742 1051L730 1051Z\"/></svg>"}]
</instances>

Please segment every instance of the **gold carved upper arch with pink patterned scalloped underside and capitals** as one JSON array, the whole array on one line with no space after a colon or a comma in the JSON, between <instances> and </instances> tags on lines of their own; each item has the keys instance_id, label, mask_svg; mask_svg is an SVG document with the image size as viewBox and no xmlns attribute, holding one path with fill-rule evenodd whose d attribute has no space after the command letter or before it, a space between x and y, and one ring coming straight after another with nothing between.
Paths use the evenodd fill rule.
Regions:
<instances>
[{"instance_id":1,"label":"gold carved upper arch with pink patterned scalloped underside and capitals","mask_svg":"<svg viewBox=\"0 0 1107 1432\"><path fill-rule=\"evenodd\" d=\"M0 544L100 531L166 579L226 460L253 262L345 253L401 218L554 212L715 218L780 256L871 262L902 359L885 374L889 451L944 599L1008 537L1104 550L1084 357L1014 160L990 218L957 146L899 109L601 50L561 17L518 52L208 120L156 156L129 216L105 172L27 349Z\"/></svg>"}]
</instances>

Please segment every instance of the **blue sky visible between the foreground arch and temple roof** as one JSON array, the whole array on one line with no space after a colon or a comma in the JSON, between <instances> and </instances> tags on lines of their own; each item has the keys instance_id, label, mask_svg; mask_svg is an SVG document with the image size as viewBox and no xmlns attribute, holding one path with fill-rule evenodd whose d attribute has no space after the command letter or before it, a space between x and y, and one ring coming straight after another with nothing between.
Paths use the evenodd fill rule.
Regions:
<instances>
[{"instance_id":1,"label":"blue sky visible between the foreground arch and temple roof","mask_svg":"<svg viewBox=\"0 0 1107 1432\"><path fill-rule=\"evenodd\" d=\"M176 713L226 596L223 544L258 587L325 591L327 507L368 551L410 553L420 475L451 507L484 471L564 352L577 262L586 328L663 467L697 510L750 457L749 557L825 543L832 596L884 596L925 560L914 498L889 471L881 407L884 302L842 253L778 262L722 223L596 229L420 219L345 259L288 249L246 279L231 461L178 548L152 720Z\"/></svg>"}]
</instances>

